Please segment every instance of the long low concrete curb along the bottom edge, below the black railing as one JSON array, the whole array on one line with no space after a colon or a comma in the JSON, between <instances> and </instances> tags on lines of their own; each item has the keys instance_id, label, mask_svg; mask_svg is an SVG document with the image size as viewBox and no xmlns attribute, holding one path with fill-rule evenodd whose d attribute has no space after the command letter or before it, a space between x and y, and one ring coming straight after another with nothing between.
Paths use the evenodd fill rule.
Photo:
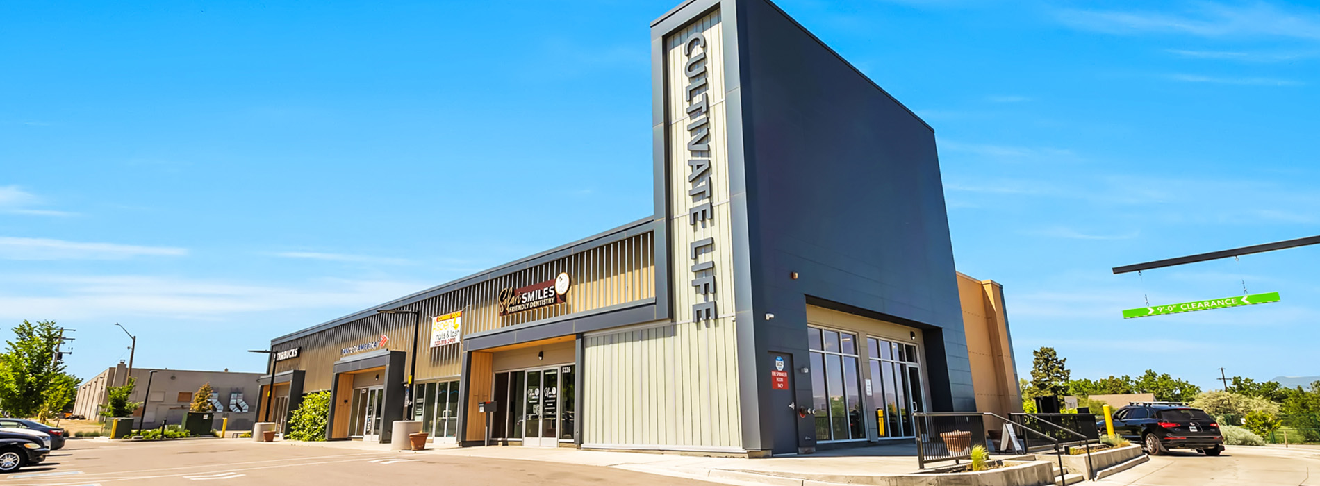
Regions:
<instances>
[{"instance_id":1,"label":"long low concrete curb along the bottom edge, below the black railing","mask_svg":"<svg viewBox=\"0 0 1320 486\"><path fill-rule=\"evenodd\" d=\"M858 474L774 474L751 470L711 469L710 477L755 481L775 486L874 485L874 486L1045 486L1053 485L1053 471L1040 461L1005 461L1001 468L964 473L913 473L888 475Z\"/></svg>"}]
</instances>

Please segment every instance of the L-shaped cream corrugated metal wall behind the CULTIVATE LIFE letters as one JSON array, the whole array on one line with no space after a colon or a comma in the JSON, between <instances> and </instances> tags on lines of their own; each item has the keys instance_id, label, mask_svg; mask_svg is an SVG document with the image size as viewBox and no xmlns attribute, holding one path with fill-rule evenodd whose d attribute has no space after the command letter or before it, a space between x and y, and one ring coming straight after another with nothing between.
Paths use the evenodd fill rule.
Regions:
<instances>
[{"instance_id":1,"label":"L-shaped cream corrugated metal wall behind the CULTIVATE LIFE letters","mask_svg":"<svg viewBox=\"0 0 1320 486\"><path fill-rule=\"evenodd\" d=\"M686 98L688 61L684 42L701 32L706 40L709 88L694 91L709 96L711 125L709 152L689 152ZM725 124L723 46L719 12L697 20L665 40L665 69L669 94L668 162L671 261L676 324L630 329L593 335L585 342L583 368L590 383L590 399L583 415L602 417L583 428L583 445L593 448L639 449L742 449L742 419L738 408L738 361L735 354L733 231L729 207L727 127ZM689 156L690 155L690 156ZM709 202L713 219L705 225L689 222L689 209L700 201L689 197L688 160L710 158ZM696 263L690 244L713 238L714 248L700 261L714 261L718 317L693 322L692 306L705 301L692 280ZM705 271L710 272L710 271ZM652 392L653 390L653 392Z\"/></svg>"}]
</instances>

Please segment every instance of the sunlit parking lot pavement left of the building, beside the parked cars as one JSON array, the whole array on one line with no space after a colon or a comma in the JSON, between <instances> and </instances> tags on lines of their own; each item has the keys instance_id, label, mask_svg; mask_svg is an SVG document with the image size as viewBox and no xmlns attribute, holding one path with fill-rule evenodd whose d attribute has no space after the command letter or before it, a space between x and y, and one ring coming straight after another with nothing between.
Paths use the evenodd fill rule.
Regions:
<instances>
[{"instance_id":1,"label":"sunlit parking lot pavement left of the building, beside the parked cars","mask_svg":"<svg viewBox=\"0 0 1320 486\"><path fill-rule=\"evenodd\" d=\"M400 454L334 448L272 446L248 440L111 442L71 440L46 462L0 485L702 485L630 470L544 461Z\"/></svg>"}]
</instances>

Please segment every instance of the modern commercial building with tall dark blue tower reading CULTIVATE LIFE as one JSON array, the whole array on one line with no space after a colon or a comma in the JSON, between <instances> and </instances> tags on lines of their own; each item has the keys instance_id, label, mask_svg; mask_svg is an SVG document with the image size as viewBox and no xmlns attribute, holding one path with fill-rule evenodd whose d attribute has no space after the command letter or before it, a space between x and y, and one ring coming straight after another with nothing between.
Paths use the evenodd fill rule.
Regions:
<instances>
[{"instance_id":1,"label":"modern commercial building with tall dark blue tower reading CULTIVATE LIFE","mask_svg":"<svg viewBox=\"0 0 1320 486\"><path fill-rule=\"evenodd\" d=\"M653 214L272 339L272 420L329 391L331 440L763 457L1020 408L932 128L767 0L651 37Z\"/></svg>"}]
</instances>

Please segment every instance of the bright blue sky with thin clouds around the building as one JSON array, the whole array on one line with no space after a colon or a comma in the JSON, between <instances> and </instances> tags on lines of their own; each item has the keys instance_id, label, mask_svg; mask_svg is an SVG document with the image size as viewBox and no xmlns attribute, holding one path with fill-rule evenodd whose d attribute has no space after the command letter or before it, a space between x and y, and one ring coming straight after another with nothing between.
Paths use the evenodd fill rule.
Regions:
<instances>
[{"instance_id":1,"label":"bright blue sky with thin clouds around the building","mask_svg":"<svg viewBox=\"0 0 1320 486\"><path fill-rule=\"evenodd\" d=\"M780 5L935 127L960 271L1019 370L1320 375L1320 7ZM673 1L5 3L0 322L71 370L264 370L271 337L651 211L648 22ZM527 207L558 202L562 210ZM1280 292L1158 318L1151 304ZM5 325L8 328L8 325Z\"/></svg>"}]
</instances>

